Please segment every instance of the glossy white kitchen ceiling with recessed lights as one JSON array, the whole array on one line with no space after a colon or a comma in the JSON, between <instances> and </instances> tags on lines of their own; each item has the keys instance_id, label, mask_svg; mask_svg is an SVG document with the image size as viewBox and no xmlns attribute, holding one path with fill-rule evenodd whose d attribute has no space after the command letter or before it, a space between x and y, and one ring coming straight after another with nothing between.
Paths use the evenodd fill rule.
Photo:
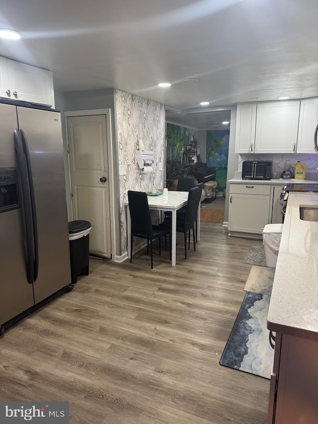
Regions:
<instances>
[{"instance_id":1,"label":"glossy white kitchen ceiling with recessed lights","mask_svg":"<svg viewBox=\"0 0 318 424\"><path fill-rule=\"evenodd\" d=\"M24 35L0 56L52 70L63 91L178 111L318 96L318 0L1 0L0 27Z\"/></svg>"}]
</instances>

